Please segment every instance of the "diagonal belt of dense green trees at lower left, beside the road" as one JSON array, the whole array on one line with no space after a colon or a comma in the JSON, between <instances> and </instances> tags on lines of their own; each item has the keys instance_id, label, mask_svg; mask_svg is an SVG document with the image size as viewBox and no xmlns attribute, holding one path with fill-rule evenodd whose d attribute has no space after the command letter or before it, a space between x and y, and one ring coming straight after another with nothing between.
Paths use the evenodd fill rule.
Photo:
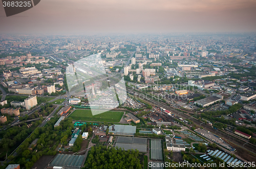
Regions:
<instances>
[{"instance_id":1,"label":"diagonal belt of dense green trees at lower left, beside the road","mask_svg":"<svg viewBox=\"0 0 256 169\"><path fill-rule=\"evenodd\" d=\"M67 118L60 122L62 132L55 130L54 124L58 118L52 118L44 127L38 127L34 132L19 146L16 150L17 156L10 158L10 163L19 163L22 167L27 169L31 168L42 155L55 155L57 153L56 148L59 143L67 144L67 138L72 134L73 123L71 118ZM22 133L21 131L20 133ZM13 133L15 134L15 133ZM9 136L9 135L8 135ZM28 133L24 135L27 137ZM33 140L37 140L36 145L30 144ZM14 162L15 161L15 162Z\"/></svg>"}]
</instances>

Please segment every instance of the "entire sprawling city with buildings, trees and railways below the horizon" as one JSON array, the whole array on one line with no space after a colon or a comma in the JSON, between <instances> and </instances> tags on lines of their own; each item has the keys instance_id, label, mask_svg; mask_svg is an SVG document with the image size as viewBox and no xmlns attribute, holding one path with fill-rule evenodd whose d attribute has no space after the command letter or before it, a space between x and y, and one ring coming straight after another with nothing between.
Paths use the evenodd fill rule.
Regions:
<instances>
[{"instance_id":1,"label":"entire sprawling city with buildings, trees and railways below the horizon","mask_svg":"<svg viewBox=\"0 0 256 169\"><path fill-rule=\"evenodd\" d=\"M253 168L255 40L2 35L0 167Z\"/></svg>"}]
</instances>

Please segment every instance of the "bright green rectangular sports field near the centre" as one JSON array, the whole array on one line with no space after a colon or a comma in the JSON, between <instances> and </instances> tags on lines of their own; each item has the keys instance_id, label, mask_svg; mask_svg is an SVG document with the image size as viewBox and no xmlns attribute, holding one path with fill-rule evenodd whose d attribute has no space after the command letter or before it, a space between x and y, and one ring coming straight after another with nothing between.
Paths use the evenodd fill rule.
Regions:
<instances>
[{"instance_id":1,"label":"bright green rectangular sports field near the centre","mask_svg":"<svg viewBox=\"0 0 256 169\"><path fill-rule=\"evenodd\" d=\"M91 110L77 109L74 112L72 112L72 114L69 117L71 117L74 120L81 120L81 121L119 123L122 116L123 116L123 112L119 112L119 111L106 111L106 112L103 111L101 114L93 116Z\"/></svg>"}]
</instances>

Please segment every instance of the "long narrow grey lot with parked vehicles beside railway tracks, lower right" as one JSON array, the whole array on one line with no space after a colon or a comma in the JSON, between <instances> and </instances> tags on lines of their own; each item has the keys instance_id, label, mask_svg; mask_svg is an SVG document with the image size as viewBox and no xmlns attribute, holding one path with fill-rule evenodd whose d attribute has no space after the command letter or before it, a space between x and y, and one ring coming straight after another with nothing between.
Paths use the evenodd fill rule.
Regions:
<instances>
[{"instance_id":1,"label":"long narrow grey lot with parked vehicles beside railway tracks, lower right","mask_svg":"<svg viewBox=\"0 0 256 169\"><path fill-rule=\"evenodd\" d=\"M201 129L201 128L198 128L195 130L197 133L201 134L202 136L210 139L212 142L216 143L216 144L219 144L220 146L228 149L228 150L233 150L233 148L227 144L221 137L215 135L214 133L211 133L205 129Z\"/></svg>"}]
</instances>

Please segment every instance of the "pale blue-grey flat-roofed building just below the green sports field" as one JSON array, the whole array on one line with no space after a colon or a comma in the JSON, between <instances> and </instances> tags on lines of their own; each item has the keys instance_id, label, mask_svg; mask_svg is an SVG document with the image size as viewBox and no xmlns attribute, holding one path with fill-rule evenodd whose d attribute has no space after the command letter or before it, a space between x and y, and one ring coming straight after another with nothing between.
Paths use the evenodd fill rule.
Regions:
<instances>
[{"instance_id":1,"label":"pale blue-grey flat-roofed building just below the green sports field","mask_svg":"<svg viewBox=\"0 0 256 169\"><path fill-rule=\"evenodd\" d=\"M111 132L116 135L134 135L136 133L136 126L116 124L109 126L109 133Z\"/></svg>"}]
</instances>

